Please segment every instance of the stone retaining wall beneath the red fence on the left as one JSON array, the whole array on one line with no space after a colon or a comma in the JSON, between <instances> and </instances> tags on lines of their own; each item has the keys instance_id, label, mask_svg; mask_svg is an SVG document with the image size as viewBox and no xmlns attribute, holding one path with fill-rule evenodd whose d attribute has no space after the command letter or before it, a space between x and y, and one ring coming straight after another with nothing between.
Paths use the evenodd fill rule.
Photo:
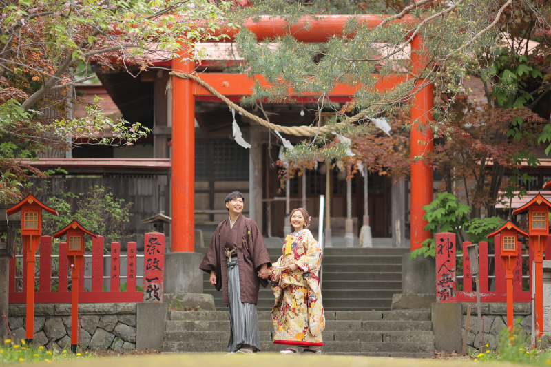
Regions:
<instances>
[{"instance_id":1,"label":"stone retaining wall beneath the red fence on the left","mask_svg":"<svg viewBox=\"0 0 551 367\"><path fill-rule=\"evenodd\" d=\"M84 349L136 349L136 303L79 304L80 342ZM8 319L12 337L25 339L25 304L10 304ZM34 306L35 346L49 350L70 348L71 304Z\"/></svg>"}]
</instances>

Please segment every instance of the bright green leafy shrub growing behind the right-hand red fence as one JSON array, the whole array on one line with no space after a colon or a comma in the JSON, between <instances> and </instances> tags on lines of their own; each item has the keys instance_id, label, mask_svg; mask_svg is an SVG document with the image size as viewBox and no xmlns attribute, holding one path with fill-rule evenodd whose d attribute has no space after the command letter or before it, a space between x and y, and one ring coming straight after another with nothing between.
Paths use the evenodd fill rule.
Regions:
<instances>
[{"instance_id":1,"label":"bright green leafy shrub growing behind the right-hand red fence","mask_svg":"<svg viewBox=\"0 0 551 367\"><path fill-rule=\"evenodd\" d=\"M435 200L422 209L426 212L423 219L428 222L424 231L430 231L431 238L424 240L420 249L414 250L410 258L417 258L419 255L435 257L435 234L437 232L450 232L461 235L464 232L470 235L473 243L486 239L491 233L503 224L499 217L491 218L470 218L471 207L460 202L452 193L438 193Z\"/></svg>"}]
</instances>

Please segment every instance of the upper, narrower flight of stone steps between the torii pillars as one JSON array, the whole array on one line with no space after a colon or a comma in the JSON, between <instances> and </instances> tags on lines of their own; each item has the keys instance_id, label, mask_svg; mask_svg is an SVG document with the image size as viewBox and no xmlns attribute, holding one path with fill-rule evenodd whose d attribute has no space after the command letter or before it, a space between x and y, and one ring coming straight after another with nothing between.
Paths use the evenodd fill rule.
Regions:
<instances>
[{"instance_id":1,"label":"upper, narrower flight of stone steps between the torii pillars","mask_svg":"<svg viewBox=\"0 0 551 367\"><path fill-rule=\"evenodd\" d=\"M196 252L207 249L196 247ZM390 310L392 296L402 293L402 255L407 248L327 248L323 256L322 298L326 311ZM273 262L282 254L281 248L268 248ZM203 278L203 290L214 297L217 310L226 310L222 292ZM258 310L271 311L273 293L260 287Z\"/></svg>"}]
</instances>

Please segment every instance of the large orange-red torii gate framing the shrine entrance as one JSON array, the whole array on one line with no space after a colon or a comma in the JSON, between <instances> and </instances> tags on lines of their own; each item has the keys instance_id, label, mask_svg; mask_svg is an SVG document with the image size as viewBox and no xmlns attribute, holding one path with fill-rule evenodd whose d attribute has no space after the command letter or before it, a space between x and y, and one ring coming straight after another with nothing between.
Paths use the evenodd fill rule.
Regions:
<instances>
[{"instance_id":1,"label":"large orange-red torii gate framing the shrine entrance","mask_svg":"<svg viewBox=\"0 0 551 367\"><path fill-rule=\"evenodd\" d=\"M342 34L342 28L346 21L356 17L360 22L370 27L382 23L384 16L366 15L326 15L318 16L316 20L303 19L297 25L289 25L287 21L278 17L264 17L258 23L249 21L245 24L251 32L256 34L259 41L265 38L293 34L295 39L303 42L325 42L335 34ZM304 23L309 22L309 30L304 29ZM413 18L406 16L396 20L412 23ZM236 30L220 30L220 34L228 34L234 41ZM183 56L185 52L181 53ZM185 55L187 56L187 55ZM417 75L424 70L427 58L424 52L423 41L415 36L411 41L412 74ZM178 59L172 60L172 70L190 73L194 70L194 63L191 61L182 62ZM228 97L240 97L251 94L254 79L247 78L245 74L200 74L200 78L213 86L219 92ZM392 89L399 83L406 80L408 76L394 75L384 76L380 91ZM261 76L256 79L262 81ZM222 86L223 82L224 85ZM265 83L265 82L264 82ZM423 79L417 81L421 86L425 83ZM347 96L354 94L353 87L337 85L329 96ZM172 252L194 252L194 209L195 209L195 99L196 97L213 96L211 92L198 85L193 80L183 78L172 78L172 225L171 242ZM304 95L313 97L315 94ZM233 99L233 98L232 98ZM411 108L411 122L426 124L432 120L431 110L433 109L433 85L428 84L417 90L413 97ZM411 128L411 156L419 156L427 151L433 150L433 140L430 130L425 129L419 132L415 125ZM419 140L424 140L427 145L420 145ZM433 169L424 162L415 162L411 165L411 250L418 249L430 233L423 231L427 224L423 220L424 205L433 201Z\"/></svg>"}]
</instances>

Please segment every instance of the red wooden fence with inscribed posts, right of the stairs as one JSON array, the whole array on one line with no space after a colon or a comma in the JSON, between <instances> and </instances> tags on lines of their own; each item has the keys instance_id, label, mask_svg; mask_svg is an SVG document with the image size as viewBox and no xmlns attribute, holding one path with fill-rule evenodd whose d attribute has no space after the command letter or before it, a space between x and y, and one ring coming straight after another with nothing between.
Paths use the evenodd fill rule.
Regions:
<instances>
[{"instance_id":1,"label":"red wooden fence with inscribed posts, right of the stairs","mask_svg":"<svg viewBox=\"0 0 551 367\"><path fill-rule=\"evenodd\" d=\"M500 235L495 236L495 243L501 243ZM437 302L476 302L477 292L473 289L472 277L470 275L470 258L467 253L467 246L470 242L463 242L463 254L455 253L455 234L437 233L436 235L436 293ZM495 246L495 253L488 255L488 242L479 242L479 282L481 302L507 302L505 269L501 262L501 247ZM513 278L513 300L514 302L531 302L532 291L522 290L522 245L517 246L519 255L514 264ZM551 260L551 236L545 247L545 260ZM529 284L532 289L532 262L534 253L528 247L529 262ZM494 258L495 275L488 274L490 258ZM463 275L457 275L457 258L463 258ZM463 291L457 290L457 280L463 279ZM495 279L495 291L490 291L488 285L490 279Z\"/></svg>"}]
</instances>

